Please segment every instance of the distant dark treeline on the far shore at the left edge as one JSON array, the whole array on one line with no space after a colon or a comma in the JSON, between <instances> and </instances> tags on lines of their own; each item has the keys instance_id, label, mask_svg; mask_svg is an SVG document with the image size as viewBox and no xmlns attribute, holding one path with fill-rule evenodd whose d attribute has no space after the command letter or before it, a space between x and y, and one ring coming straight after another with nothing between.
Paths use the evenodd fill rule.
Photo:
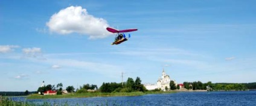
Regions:
<instances>
[{"instance_id":1,"label":"distant dark treeline on the far shore at the left edge","mask_svg":"<svg viewBox=\"0 0 256 106\"><path fill-rule=\"evenodd\" d=\"M27 96L32 93L36 93L36 91L28 92L28 90L26 90L25 92L0 92L0 95L2 95L2 96Z\"/></svg>"}]
</instances>

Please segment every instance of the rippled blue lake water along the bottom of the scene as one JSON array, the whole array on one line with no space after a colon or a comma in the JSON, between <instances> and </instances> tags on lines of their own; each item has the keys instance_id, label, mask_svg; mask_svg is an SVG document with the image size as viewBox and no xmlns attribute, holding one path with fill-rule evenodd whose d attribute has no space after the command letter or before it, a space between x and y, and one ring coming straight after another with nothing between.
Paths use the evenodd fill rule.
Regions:
<instances>
[{"instance_id":1,"label":"rippled blue lake water along the bottom of the scene","mask_svg":"<svg viewBox=\"0 0 256 106\"><path fill-rule=\"evenodd\" d=\"M144 96L100 98L33 99L13 98L38 104L68 105L256 105L256 91L244 92L179 92Z\"/></svg>"}]
</instances>

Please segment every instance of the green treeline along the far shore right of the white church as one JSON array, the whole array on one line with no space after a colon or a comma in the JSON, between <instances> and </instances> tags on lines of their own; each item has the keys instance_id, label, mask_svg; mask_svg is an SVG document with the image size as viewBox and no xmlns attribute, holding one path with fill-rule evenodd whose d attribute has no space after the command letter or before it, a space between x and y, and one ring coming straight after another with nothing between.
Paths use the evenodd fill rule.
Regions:
<instances>
[{"instance_id":1,"label":"green treeline along the far shore right of the white church","mask_svg":"<svg viewBox=\"0 0 256 106\"><path fill-rule=\"evenodd\" d=\"M247 90L256 89L256 83L202 83L201 81L187 82L184 83L185 89L193 90ZM207 86L210 88L207 89Z\"/></svg>"}]
</instances>

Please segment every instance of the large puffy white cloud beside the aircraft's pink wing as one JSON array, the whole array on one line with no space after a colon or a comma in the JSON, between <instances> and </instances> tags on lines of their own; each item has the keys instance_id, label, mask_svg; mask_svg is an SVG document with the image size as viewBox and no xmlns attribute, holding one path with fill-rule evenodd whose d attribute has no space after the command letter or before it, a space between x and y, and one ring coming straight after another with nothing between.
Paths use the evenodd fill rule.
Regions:
<instances>
[{"instance_id":1,"label":"large puffy white cloud beside the aircraft's pink wing","mask_svg":"<svg viewBox=\"0 0 256 106\"><path fill-rule=\"evenodd\" d=\"M46 23L51 32L58 34L78 34L89 35L89 38L105 38L110 35L106 31L109 26L107 21L94 17L80 6L68 7L53 14L49 22Z\"/></svg>"}]
</instances>

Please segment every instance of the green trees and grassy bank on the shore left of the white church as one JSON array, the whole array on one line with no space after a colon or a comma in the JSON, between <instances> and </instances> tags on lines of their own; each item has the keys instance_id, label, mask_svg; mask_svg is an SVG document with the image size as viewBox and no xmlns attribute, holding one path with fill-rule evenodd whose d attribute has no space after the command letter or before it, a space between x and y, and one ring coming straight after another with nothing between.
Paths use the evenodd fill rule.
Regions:
<instances>
[{"instance_id":1,"label":"green trees and grassy bank on the shore left of the white church","mask_svg":"<svg viewBox=\"0 0 256 106\"><path fill-rule=\"evenodd\" d=\"M61 87L57 86L56 90L60 91L60 89L62 89ZM39 87L37 91L41 92L42 94L42 92L45 92L47 90L54 90L54 86L47 85ZM141 96L155 93L174 93L174 91L162 92L160 89L147 90L146 87L144 87L144 85L141 84L141 79L139 77L136 77L136 80L133 80L133 78L127 78L127 81L123 83L103 82L99 89L95 84L83 84L83 86L80 86L80 89L75 90L73 86L68 86L66 90L68 91L68 94L65 95L63 95L62 93L57 93L57 95L33 94L29 95L27 99L86 98L97 96Z\"/></svg>"}]
</instances>

